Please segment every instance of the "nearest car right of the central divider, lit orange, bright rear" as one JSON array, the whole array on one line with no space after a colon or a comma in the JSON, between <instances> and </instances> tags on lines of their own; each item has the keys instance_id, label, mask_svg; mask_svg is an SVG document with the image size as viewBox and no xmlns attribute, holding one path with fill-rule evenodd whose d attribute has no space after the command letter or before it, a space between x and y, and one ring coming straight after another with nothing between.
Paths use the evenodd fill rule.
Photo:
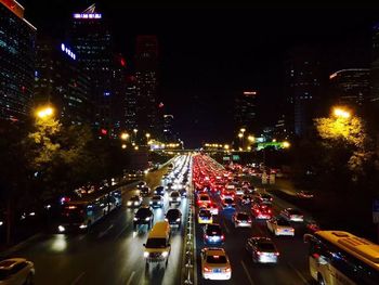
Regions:
<instances>
[{"instance_id":1,"label":"nearest car right of the central divider, lit orange, bright rear","mask_svg":"<svg viewBox=\"0 0 379 285\"><path fill-rule=\"evenodd\" d=\"M204 248L200 252L201 275L206 280L230 280L232 267L223 248Z\"/></svg>"}]
</instances>

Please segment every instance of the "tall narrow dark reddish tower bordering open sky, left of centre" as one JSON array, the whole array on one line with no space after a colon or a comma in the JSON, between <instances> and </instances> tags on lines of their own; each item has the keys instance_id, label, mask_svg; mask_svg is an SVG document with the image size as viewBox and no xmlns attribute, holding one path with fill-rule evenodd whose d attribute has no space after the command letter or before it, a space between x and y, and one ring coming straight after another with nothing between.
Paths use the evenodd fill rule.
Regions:
<instances>
[{"instance_id":1,"label":"tall narrow dark reddish tower bordering open sky, left of centre","mask_svg":"<svg viewBox=\"0 0 379 285\"><path fill-rule=\"evenodd\" d=\"M135 47L136 115L139 130L158 135L158 40L156 36L138 36Z\"/></svg>"}]
</instances>

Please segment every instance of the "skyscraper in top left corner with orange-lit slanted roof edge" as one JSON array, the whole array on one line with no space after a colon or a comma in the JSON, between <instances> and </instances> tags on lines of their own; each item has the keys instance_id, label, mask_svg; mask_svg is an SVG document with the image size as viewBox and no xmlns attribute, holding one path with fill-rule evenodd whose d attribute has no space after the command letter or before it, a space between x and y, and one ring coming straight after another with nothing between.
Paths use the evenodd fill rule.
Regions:
<instances>
[{"instance_id":1,"label":"skyscraper in top left corner with orange-lit slanted roof edge","mask_svg":"<svg viewBox=\"0 0 379 285\"><path fill-rule=\"evenodd\" d=\"M36 28L24 8L0 0L0 119L24 120L30 115L35 73Z\"/></svg>"}]
</instances>

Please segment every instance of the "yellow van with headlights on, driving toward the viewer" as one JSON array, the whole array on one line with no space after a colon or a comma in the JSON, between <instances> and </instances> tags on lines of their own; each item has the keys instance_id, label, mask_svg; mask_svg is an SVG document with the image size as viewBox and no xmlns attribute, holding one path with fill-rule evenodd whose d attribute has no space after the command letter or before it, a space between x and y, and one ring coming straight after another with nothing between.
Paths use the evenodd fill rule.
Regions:
<instances>
[{"instance_id":1,"label":"yellow van with headlights on, driving toward the viewer","mask_svg":"<svg viewBox=\"0 0 379 285\"><path fill-rule=\"evenodd\" d=\"M144 258L146 269L149 263L162 263L167 267L171 251L170 245L171 230L167 221L157 222L148 233L145 247Z\"/></svg>"}]
</instances>

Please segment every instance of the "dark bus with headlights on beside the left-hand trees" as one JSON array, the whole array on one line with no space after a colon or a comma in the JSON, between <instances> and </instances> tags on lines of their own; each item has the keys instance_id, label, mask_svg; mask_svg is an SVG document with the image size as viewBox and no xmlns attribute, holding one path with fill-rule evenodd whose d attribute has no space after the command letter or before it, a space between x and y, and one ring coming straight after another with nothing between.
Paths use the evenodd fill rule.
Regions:
<instances>
[{"instance_id":1,"label":"dark bus with headlights on beside the left-hand trees","mask_svg":"<svg viewBox=\"0 0 379 285\"><path fill-rule=\"evenodd\" d=\"M60 211L57 231L86 231L121 205L121 191L112 187L77 198L66 198Z\"/></svg>"}]
</instances>

